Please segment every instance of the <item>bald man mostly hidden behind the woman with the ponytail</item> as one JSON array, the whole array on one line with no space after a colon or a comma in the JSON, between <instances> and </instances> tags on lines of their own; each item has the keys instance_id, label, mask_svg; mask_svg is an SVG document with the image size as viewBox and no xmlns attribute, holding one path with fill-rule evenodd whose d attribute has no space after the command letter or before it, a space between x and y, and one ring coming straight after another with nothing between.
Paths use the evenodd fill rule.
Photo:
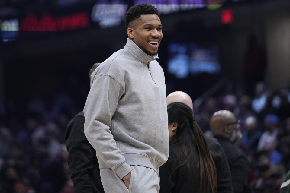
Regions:
<instances>
[{"instance_id":1,"label":"bald man mostly hidden behind the woman with the ponytail","mask_svg":"<svg viewBox=\"0 0 290 193\"><path fill-rule=\"evenodd\" d=\"M176 92L170 93L166 97L166 102L167 104L172 103L172 102L182 102L188 105L191 109L193 109L191 97L187 93L182 92L182 91L176 91ZM208 143L209 152L211 153L211 156L214 160L214 164L217 169L218 186L217 186L216 192L218 193L232 192L230 168L227 163L227 157L224 153L224 150L216 139L210 138L207 136L205 136L205 138ZM160 172L162 172L162 168ZM162 188L162 179L160 179L160 188Z\"/></svg>"}]
</instances>

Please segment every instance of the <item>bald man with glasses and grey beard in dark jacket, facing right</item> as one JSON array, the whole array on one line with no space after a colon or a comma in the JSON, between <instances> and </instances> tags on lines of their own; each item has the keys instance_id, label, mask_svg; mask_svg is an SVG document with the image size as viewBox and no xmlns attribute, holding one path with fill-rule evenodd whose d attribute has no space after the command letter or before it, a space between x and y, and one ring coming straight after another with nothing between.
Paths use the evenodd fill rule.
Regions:
<instances>
[{"instance_id":1,"label":"bald man with glasses and grey beard in dark jacket, facing right","mask_svg":"<svg viewBox=\"0 0 290 193\"><path fill-rule=\"evenodd\" d=\"M210 128L214 138L218 139L226 153L234 193L250 192L247 157L235 144L242 138L240 121L237 120L233 112L221 110L211 116Z\"/></svg>"}]
</instances>

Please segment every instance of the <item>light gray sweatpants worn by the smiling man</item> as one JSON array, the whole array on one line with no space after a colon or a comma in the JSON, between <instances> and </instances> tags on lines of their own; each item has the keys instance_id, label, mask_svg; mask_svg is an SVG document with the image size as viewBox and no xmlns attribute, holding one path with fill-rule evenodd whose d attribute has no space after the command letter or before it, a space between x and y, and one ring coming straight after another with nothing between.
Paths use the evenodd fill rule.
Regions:
<instances>
[{"instance_id":1,"label":"light gray sweatpants worn by the smiling man","mask_svg":"<svg viewBox=\"0 0 290 193\"><path fill-rule=\"evenodd\" d=\"M132 166L129 190L111 169L100 169L105 193L159 193L159 174L144 166Z\"/></svg>"}]
</instances>

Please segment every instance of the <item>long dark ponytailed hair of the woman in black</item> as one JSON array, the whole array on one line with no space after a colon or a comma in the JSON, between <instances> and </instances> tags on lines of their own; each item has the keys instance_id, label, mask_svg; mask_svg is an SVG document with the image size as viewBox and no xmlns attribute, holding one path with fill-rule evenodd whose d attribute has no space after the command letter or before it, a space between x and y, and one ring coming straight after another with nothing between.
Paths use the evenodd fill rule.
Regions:
<instances>
[{"instance_id":1,"label":"long dark ponytailed hair of the woman in black","mask_svg":"<svg viewBox=\"0 0 290 193\"><path fill-rule=\"evenodd\" d=\"M192 109L184 103L174 102L167 105L167 112L168 123L177 123L177 131L172 137L171 145L180 148L179 162L172 171L185 164L189 167L194 159L193 152L198 153L200 191L214 193L217 187L216 168L205 136L194 120Z\"/></svg>"}]
</instances>

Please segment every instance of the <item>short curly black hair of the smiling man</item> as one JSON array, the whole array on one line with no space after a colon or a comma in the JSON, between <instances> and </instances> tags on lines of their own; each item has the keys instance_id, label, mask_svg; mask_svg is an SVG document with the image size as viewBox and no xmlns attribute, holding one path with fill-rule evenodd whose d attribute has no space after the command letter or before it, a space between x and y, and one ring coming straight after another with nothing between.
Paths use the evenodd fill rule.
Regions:
<instances>
[{"instance_id":1,"label":"short curly black hair of the smiling man","mask_svg":"<svg viewBox=\"0 0 290 193\"><path fill-rule=\"evenodd\" d=\"M125 15L125 25L130 27L135 19L139 19L141 15L155 14L159 17L159 11L156 7L150 4L140 3L128 9Z\"/></svg>"}]
</instances>

